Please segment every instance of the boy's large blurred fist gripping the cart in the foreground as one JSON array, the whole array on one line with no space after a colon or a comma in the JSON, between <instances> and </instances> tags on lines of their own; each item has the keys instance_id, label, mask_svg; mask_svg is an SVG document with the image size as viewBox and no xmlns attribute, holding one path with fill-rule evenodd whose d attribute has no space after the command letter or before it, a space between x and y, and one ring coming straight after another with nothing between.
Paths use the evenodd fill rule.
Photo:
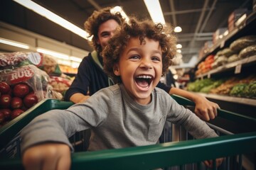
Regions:
<instances>
[{"instance_id":1,"label":"boy's large blurred fist gripping the cart in the foreground","mask_svg":"<svg viewBox=\"0 0 256 170\"><path fill-rule=\"evenodd\" d=\"M70 147L60 143L36 145L26 149L22 158L26 170L70 169Z\"/></svg>"}]
</instances>

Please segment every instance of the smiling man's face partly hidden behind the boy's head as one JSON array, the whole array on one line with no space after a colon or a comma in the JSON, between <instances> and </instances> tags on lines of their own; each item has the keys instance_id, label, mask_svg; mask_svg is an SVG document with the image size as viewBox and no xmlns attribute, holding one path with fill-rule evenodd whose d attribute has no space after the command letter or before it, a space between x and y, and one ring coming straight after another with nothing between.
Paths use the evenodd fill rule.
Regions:
<instances>
[{"instance_id":1,"label":"smiling man's face partly hidden behind the boy's head","mask_svg":"<svg viewBox=\"0 0 256 170\"><path fill-rule=\"evenodd\" d=\"M114 35L114 30L117 28L117 26L119 26L119 24L117 21L114 21L114 19L110 19L100 25L97 44L102 47L102 50L107 46L108 40L110 40L110 38L112 38Z\"/></svg>"}]
</instances>

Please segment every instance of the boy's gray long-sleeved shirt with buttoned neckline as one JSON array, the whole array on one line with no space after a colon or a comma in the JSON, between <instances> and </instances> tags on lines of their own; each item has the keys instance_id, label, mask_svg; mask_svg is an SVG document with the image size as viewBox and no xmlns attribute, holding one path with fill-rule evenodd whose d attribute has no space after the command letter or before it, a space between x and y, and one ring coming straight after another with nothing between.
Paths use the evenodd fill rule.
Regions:
<instances>
[{"instance_id":1,"label":"boy's gray long-sleeved shirt with buttoned neckline","mask_svg":"<svg viewBox=\"0 0 256 170\"><path fill-rule=\"evenodd\" d=\"M196 138L217 137L194 113L165 91L155 88L148 105L136 103L122 84L107 87L67 110L43 113L21 132L22 151L42 142L63 142L75 132L91 129L88 150L154 145L164 123L182 125ZM70 147L72 147L70 145Z\"/></svg>"}]
</instances>

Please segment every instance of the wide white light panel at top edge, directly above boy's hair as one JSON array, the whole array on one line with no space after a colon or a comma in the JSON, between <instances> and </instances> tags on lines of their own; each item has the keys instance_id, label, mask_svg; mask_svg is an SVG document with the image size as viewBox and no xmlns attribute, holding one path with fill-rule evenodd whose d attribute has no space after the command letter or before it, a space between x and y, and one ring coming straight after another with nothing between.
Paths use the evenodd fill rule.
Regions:
<instances>
[{"instance_id":1,"label":"wide white light panel at top edge, directly above boy's hair","mask_svg":"<svg viewBox=\"0 0 256 170\"><path fill-rule=\"evenodd\" d=\"M146 8L149 11L150 17L154 23L166 23L164 21L164 15L161 10L159 0L144 0L144 3L146 4Z\"/></svg>"}]
</instances>

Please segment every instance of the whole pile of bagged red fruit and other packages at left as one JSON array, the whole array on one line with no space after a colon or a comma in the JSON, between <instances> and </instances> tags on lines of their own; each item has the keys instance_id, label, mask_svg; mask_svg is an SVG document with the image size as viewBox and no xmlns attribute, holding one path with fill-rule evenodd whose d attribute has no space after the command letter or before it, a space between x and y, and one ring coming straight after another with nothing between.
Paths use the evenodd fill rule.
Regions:
<instances>
[{"instance_id":1,"label":"whole pile of bagged red fruit and other packages at left","mask_svg":"<svg viewBox=\"0 0 256 170\"><path fill-rule=\"evenodd\" d=\"M49 55L39 52L0 54L0 127L43 98L62 100L71 84L63 77L57 62Z\"/></svg>"}]
</instances>

